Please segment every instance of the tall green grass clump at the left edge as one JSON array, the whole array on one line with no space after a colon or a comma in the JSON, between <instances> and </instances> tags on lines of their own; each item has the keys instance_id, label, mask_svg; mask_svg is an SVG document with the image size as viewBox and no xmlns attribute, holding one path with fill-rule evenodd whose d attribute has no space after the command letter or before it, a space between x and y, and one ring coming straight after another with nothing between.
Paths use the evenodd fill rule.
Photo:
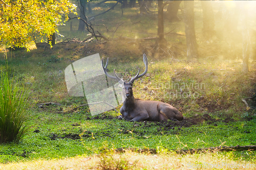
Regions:
<instances>
[{"instance_id":1,"label":"tall green grass clump at the left edge","mask_svg":"<svg viewBox=\"0 0 256 170\"><path fill-rule=\"evenodd\" d=\"M0 75L0 143L18 142L28 131L24 124L28 90L9 78L8 72L1 71Z\"/></svg>"}]
</instances>

